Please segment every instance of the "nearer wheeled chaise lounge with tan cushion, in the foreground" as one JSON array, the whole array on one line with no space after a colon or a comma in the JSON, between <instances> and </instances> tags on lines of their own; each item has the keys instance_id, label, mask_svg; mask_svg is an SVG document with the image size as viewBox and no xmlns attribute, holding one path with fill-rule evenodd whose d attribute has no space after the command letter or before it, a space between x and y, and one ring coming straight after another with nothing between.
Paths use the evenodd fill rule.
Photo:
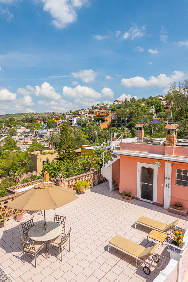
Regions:
<instances>
[{"instance_id":1,"label":"nearer wheeled chaise lounge with tan cushion, in the foreground","mask_svg":"<svg viewBox=\"0 0 188 282\"><path fill-rule=\"evenodd\" d=\"M141 263L144 263L145 266L143 270L145 274L151 273L149 266L159 269L166 260L164 256L156 254L156 251L159 248L159 243L155 244L152 247L144 248L143 246L138 245L137 243L134 243L126 238L116 235L108 243L108 251L110 247L116 248L119 251L122 251L123 253L126 253L129 256L135 258L136 260L138 259ZM150 258L151 256L152 259ZM154 264L152 264L153 262L158 263L159 257L164 259L162 263L159 266L155 266Z\"/></svg>"}]
</instances>

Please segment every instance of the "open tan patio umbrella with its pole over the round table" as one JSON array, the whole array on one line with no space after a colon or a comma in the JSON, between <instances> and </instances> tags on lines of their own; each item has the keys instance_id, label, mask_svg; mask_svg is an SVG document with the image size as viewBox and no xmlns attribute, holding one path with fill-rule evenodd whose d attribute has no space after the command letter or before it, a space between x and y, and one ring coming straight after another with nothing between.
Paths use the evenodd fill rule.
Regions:
<instances>
[{"instance_id":1,"label":"open tan patio umbrella with its pole over the round table","mask_svg":"<svg viewBox=\"0 0 188 282\"><path fill-rule=\"evenodd\" d=\"M44 210L44 227L46 230L45 210L56 209L76 200L78 197L75 196L75 193L75 190L42 182L16 196L13 201L8 203L8 206L26 211Z\"/></svg>"}]
</instances>

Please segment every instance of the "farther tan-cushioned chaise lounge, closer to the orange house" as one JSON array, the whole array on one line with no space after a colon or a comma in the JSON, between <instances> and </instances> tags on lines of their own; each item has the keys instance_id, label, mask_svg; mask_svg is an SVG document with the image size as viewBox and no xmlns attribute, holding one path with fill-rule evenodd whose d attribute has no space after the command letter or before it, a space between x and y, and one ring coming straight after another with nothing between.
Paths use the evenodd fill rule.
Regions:
<instances>
[{"instance_id":1,"label":"farther tan-cushioned chaise lounge, closer to the orange house","mask_svg":"<svg viewBox=\"0 0 188 282\"><path fill-rule=\"evenodd\" d=\"M137 219L137 221L135 221L135 227L134 228L136 228L137 224L141 224L141 225L144 225L146 227L157 230L159 232L170 235L168 233L168 231L173 232L173 228L175 228L175 230L176 230L176 225L178 224L179 221L180 221L179 219L176 219L174 222L172 222L170 224L165 224L165 223L156 221L156 220L148 218L148 217L140 217L140 218ZM167 237L167 238L169 239L169 237Z\"/></svg>"}]
</instances>

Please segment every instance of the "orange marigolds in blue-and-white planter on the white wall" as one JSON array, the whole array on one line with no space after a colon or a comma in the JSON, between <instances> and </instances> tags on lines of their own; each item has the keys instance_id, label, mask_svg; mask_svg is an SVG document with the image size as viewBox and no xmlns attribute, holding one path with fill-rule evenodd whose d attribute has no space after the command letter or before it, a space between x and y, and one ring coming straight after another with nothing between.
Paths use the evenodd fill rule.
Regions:
<instances>
[{"instance_id":1,"label":"orange marigolds in blue-and-white planter on the white wall","mask_svg":"<svg viewBox=\"0 0 188 282\"><path fill-rule=\"evenodd\" d=\"M183 253L184 249L185 249L185 243L182 242L183 241L183 234L182 232L180 231L175 231L174 232L174 237L172 237L169 242L167 243L168 244L168 248L171 250L171 251L174 251L175 253Z\"/></svg>"}]
</instances>

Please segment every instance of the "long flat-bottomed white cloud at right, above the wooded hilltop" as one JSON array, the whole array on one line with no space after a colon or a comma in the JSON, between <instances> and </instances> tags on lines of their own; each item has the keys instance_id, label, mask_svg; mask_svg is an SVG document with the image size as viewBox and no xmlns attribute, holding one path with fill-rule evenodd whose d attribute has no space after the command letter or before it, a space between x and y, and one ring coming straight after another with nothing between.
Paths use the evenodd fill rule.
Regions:
<instances>
[{"instance_id":1,"label":"long flat-bottomed white cloud at right, above the wooded hilltop","mask_svg":"<svg viewBox=\"0 0 188 282\"><path fill-rule=\"evenodd\" d=\"M170 86L174 81L183 79L186 77L183 71L174 71L172 75L166 76L165 74L160 74L159 76L151 76L149 80L146 80L141 76L134 76L131 78L123 78L121 85L124 85L128 88L131 87L167 87Z\"/></svg>"}]
</instances>

